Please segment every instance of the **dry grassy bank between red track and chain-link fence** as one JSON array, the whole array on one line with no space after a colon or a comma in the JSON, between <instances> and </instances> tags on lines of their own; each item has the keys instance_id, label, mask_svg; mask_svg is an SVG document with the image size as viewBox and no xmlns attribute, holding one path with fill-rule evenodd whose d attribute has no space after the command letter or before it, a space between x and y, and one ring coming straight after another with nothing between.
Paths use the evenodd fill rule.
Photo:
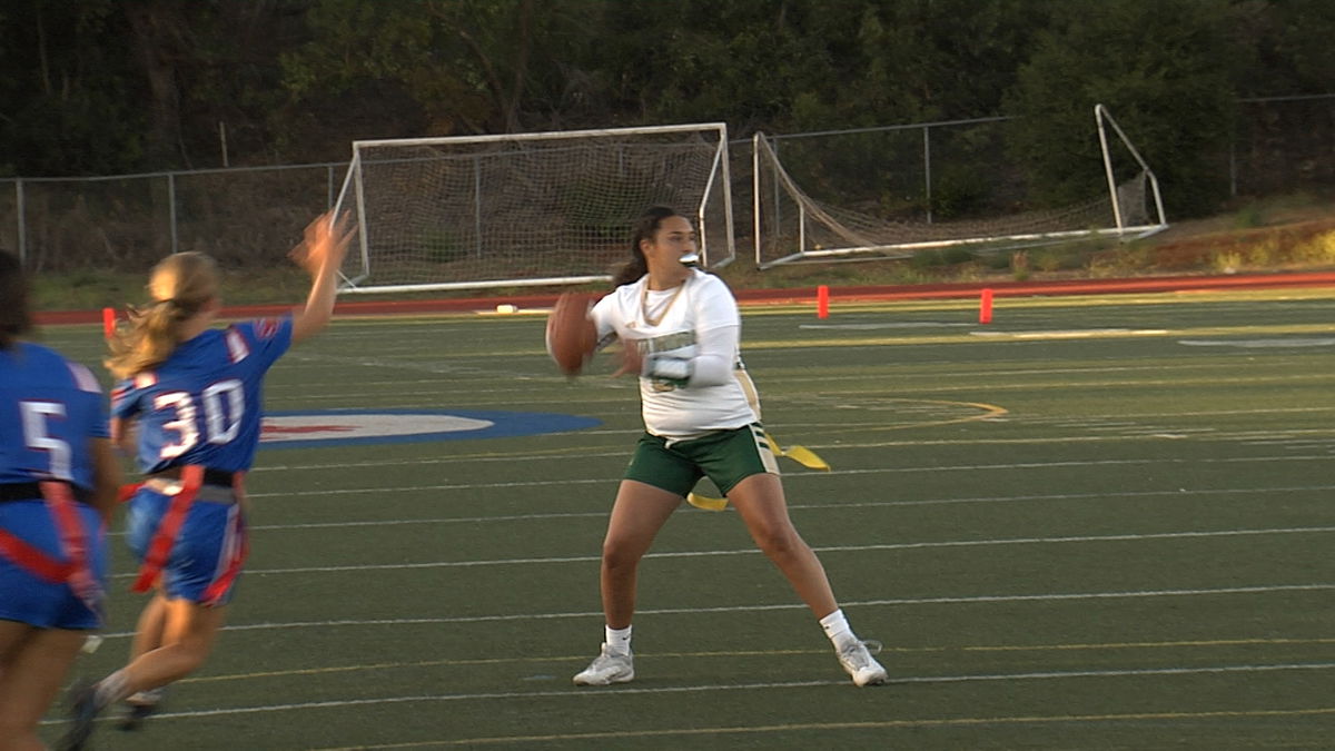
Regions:
<instances>
[{"instance_id":1,"label":"dry grassy bank between red track and chain-link fence","mask_svg":"<svg viewBox=\"0 0 1335 751\"><path fill-rule=\"evenodd\" d=\"M1176 223L1129 243L1104 239L996 254L960 249L909 259L809 262L765 271L757 270L746 254L748 249L738 249L737 262L717 271L733 289L1331 270L1335 269L1335 203L1310 195L1250 203L1231 214ZM39 310L121 307L143 299L144 282L142 275L93 270L45 274L35 279L36 305ZM223 297L230 305L295 305L303 298L306 283L288 266L263 273L231 271L224 278ZM551 290L465 290L415 297L506 297L538 291Z\"/></svg>"}]
</instances>

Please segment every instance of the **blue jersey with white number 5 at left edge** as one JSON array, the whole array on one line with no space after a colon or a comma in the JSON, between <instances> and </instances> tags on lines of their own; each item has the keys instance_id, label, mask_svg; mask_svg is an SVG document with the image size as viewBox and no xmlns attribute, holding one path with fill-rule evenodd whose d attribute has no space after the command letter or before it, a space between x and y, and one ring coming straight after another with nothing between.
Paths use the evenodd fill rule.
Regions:
<instances>
[{"instance_id":1,"label":"blue jersey with white number 5 at left edge","mask_svg":"<svg viewBox=\"0 0 1335 751\"><path fill-rule=\"evenodd\" d=\"M88 440L107 434L101 386L87 367L29 342L0 349L0 482L92 488Z\"/></svg>"}]
</instances>

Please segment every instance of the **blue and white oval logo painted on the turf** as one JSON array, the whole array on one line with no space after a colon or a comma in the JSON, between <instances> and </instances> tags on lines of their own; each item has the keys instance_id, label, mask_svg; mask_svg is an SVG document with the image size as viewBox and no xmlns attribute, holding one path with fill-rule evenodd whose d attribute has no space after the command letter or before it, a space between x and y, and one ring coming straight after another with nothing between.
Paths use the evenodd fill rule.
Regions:
<instances>
[{"instance_id":1,"label":"blue and white oval logo painted on the turf","mask_svg":"<svg viewBox=\"0 0 1335 751\"><path fill-rule=\"evenodd\" d=\"M263 449L306 449L359 444L417 444L513 438L601 425L593 417L549 412L358 409L271 412L260 430Z\"/></svg>"}]
</instances>

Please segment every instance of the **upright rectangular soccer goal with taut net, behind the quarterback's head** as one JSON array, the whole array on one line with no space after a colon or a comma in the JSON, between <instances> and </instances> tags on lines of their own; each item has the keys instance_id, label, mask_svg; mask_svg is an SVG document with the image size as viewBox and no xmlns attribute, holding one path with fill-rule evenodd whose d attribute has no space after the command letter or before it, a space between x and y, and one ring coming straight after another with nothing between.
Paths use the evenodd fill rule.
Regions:
<instances>
[{"instance_id":1,"label":"upright rectangular soccer goal with taut net, behind the quarterback's head","mask_svg":"<svg viewBox=\"0 0 1335 751\"><path fill-rule=\"evenodd\" d=\"M585 283L630 257L654 204L734 259L724 123L359 140L335 204L358 220L342 291ZM359 251L358 251L359 250Z\"/></svg>"}]
</instances>

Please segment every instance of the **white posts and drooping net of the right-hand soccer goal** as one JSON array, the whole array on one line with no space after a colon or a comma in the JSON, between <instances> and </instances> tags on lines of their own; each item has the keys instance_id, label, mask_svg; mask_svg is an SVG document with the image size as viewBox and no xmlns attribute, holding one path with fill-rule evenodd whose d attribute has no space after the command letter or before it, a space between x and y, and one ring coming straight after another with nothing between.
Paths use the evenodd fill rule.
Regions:
<instances>
[{"instance_id":1,"label":"white posts and drooping net of the right-hand soccer goal","mask_svg":"<svg viewBox=\"0 0 1335 751\"><path fill-rule=\"evenodd\" d=\"M1101 104L1095 107L1095 122L1107 176L1107 192L1056 208L1035 211L1013 208L1008 204L1008 196L1023 188L1013 184L1017 182L1013 172L1000 163L1004 152L1000 136L1003 120L1007 118L865 128L861 132L882 140L876 144L865 142L852 144L849 139L856 135L848 134L854 131L846 131L838 134L842 140L837 146L826 143L824 150L821 146L792 150L797 151L792 158L794 163L824 167L822 175L829 179L816 179L810 174L794 179L780 162L774 142L765 134L756 134L752 139L756 265L760 269L769 269L808 259L832 261L848 257L846 259L852 261L857 255L906 258L920 251L959 246L968 247L973 253L993 253L1100 235L1135 239L1168 227L1159 180ZM1109 142L1108 126L1116 140ZM904 135L888 134L892 130ZM956 175L960 183L956 187L957 192L975 202L971 204L972 211L961 212L960 216L933 218L932 214L933 175L939 172L949 175L948 167L933 167L945 162L932 148L933 134L937 143L948 142L944 135L955 135L956 143L963 144L959 146L960 152L972 148L975 154L985 154L992 159L991 168L975 167L963 176ZM885 140L888 135L897 135L900 142L888 144ZM913 143L910 139L920 140ZM886 172L896 170L914 172L918 184L905 187L901 183L897 186L901 194L921 195L918 191L922 191L925 176L925 211L913 207L912 211L900 211L893 219L886 219L884 214L878 215L874 208L862 204L850 208L844 204L834 206L830 200L818 200L808 195L800 184L801 179L809 179L812 183L834 183L838 175L830 176L837 170L830 168L830 155L836 150L841 154L894 154L896 148L900 155L908 152L910 158L882 167ZM785 146L785 154L788 150L790 147ZM914 150L917 156L913 156ZM909 166L905 167L905 163ZM989 179L996 184L984 186L983 183ZM881 203L885 203L884 192ZM910 206L908 199L905 206Z\"/></svg>"}]
</instances>

